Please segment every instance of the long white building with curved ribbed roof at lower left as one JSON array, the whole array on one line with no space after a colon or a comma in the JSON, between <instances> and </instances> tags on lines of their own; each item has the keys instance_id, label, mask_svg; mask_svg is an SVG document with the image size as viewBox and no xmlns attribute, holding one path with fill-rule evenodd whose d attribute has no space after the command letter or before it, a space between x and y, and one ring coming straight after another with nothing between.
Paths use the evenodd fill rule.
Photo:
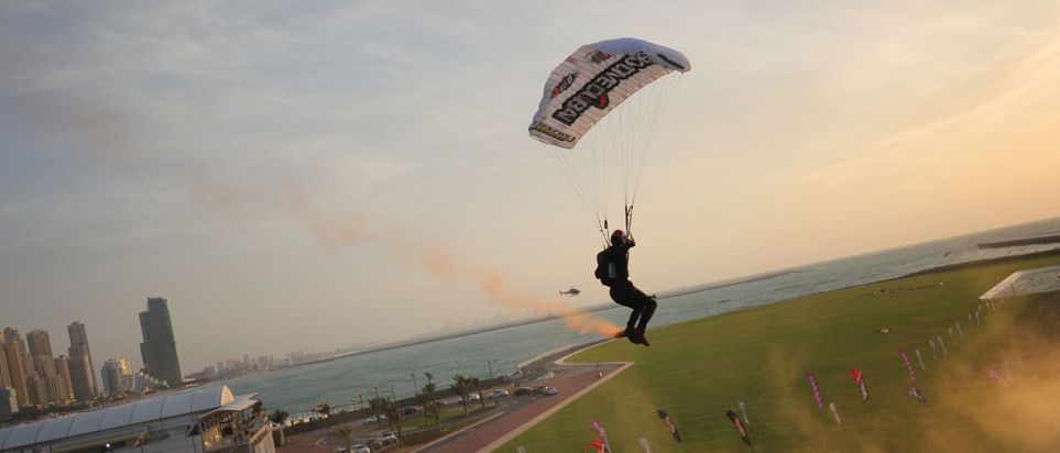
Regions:
<instances>
[{"instance_id":1,"label":"long white building with curved ribbed roof at lower left","mask_svg":"<svg viewBox=\"0 0 1060 453\"><path fill-rule=\"evenodd\" d=\"M227 386L0 429L0 453L275 453L256 395Z\"/></svg>"}]
</instances>

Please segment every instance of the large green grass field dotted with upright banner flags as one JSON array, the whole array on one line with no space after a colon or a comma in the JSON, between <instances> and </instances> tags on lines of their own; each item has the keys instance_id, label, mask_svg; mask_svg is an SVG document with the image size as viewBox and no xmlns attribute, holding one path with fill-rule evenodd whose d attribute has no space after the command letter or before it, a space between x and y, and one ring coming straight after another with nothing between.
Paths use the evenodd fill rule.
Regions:
<instances>
[{"instance_id":1,"label":"large green grass field dotted with upright banner flags","mask_svg":"<svg viewBox=\"0 0 1060 453\"><path fill-rule=\"evenodd\" d=\"M532 453L581 451L595 438L590 418L608 430L616 453L643 452L640 438L657 453L751 451L725 417L726 410L740 413L739 401L747 405L756 452L1060 451L1060 444L1050 450L1037 439L1039 443L1020 439L1027 434L1020 430L1035 427L1013 426L1010 419L1021 418L1025 409L1010 407L1015 394L987 378L987 369L1006 357L1019 372L1013 320L1026 311L1027 300L1007 301L984 316L982 327L968 325L968 314L981 303L977 297L1003 278L1058 263L1060 256L1050 255L986 264L700 319L651 331L652 347L607 343L570 362L636 365L496 451L515 452L518 445ZM916 287L927 288L872 295L881 288ZM659 310L666 309L664 300ZM948 331L954 321L961 321L965 335L957 345ZM892 332L877 333L881 328ZM937 335L950 352L946 357L939 351L939 362L928 345ZM917 365L916 349L926 372ZM913 361L927 405L906 395L911 385L899 350ZM851 368L865 376L872 395L867 402L852 379L840 378ZM806 373L818 382L823 411ZM1042 388L1060 394L1054 383L1034 391ZM1019 395L1030 402L1041 399ZM829 402L835 402L842 426ZM1060 399L1052 404L1060 407ZM682 443L670 437L657 409L669 412ZM1058 419L1052 409L1040 411ZM1041 428L1053 427L1041 422Z\"/></svg>"}]
</instances>

